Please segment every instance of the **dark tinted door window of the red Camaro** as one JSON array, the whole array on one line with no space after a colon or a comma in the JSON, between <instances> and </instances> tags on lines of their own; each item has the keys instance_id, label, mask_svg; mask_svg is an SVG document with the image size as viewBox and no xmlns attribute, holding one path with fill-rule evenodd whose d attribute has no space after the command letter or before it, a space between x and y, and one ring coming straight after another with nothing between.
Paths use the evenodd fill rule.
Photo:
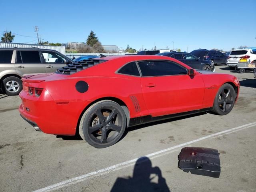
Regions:
<instances>
[{"instance_id":1,"label":"dark tinted door window of the red Camaro","mask_svg":"<svg viewBox=\"0 0 256 192\"><path fill-rule=\"evenodd\" d=\"M188 74L186 68L171 61L143 61L139 67L144 77Z\"/></svg>"}]
</instances>

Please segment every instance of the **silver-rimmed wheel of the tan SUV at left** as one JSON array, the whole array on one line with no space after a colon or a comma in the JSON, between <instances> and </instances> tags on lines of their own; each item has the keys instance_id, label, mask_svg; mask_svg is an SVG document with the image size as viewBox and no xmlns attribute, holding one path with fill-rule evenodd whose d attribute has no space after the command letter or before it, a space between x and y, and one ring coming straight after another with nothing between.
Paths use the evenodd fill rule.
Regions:
<instances>
[{"instance_id":1,"label":"silver-rimmed wheel of the tan SUV at left","mask_svg":"<svg viewBox=\"0 0 256 192\"><path fill-rule=\"evenodd\" d=\"M18 95L22 90L22 81L18 77L7 77L3 80L3 88L8 96Z\"/></svg>"}]
</instances>

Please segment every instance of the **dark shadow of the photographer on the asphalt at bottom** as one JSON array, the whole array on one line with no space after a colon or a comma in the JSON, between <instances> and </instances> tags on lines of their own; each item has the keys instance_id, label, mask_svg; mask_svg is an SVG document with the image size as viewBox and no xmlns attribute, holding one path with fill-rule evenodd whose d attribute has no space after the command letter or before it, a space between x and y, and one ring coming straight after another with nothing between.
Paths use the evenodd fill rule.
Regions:
<instances>
[{"instance_id":1,"label":"dark shadow of the photographer on the asphalt at bottom","mask_svg":"<svg viewBox=\"0 0 256 192\"><path fill-rule=\"evenodd\" d=\"M154 174L150 178L151 174ZM158 177L158 183L151 182ZM149 158L142 157L136 161L133 177L117 178L111 192L170 192L159 167L152 167Z\"/></svg>"}]
</instances>

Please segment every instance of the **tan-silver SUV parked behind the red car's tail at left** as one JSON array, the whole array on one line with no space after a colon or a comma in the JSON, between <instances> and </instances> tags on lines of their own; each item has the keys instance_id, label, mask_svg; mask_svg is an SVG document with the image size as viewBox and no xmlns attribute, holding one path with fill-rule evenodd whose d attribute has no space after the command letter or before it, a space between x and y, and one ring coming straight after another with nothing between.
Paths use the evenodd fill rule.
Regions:
<instances>
[{"instance_id":1,"label":"tan-silver SUV parked behind the red car's tail at left","mask_svg":"<svg viewBox=\"0 0 256 192\"><path fill-rule=\"evenodd\" d=\"M60 52L39 48L0 48L0 89L7 95L22 90L22 76L55 72L73 63Z\"/></svg>"}]
</instances>

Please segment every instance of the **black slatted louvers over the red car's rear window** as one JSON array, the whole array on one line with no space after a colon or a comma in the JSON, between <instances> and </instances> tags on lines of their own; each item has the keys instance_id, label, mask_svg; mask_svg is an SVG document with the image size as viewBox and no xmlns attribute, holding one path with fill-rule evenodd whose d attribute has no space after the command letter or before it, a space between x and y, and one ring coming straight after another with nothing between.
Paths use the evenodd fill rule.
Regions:
<instances>
[{"instance_id":1,"label":"black slatted louvers over the red car's rear window","mask_svg":"<svg viewBox=\"0 0 256 192\"><path fill-rule=\"evenodd\" d=\"M105 62L105 61L107 61L107 60L83 60L78 63L68 64L67 66L59 68L56 70L55 73L71 75L78 71L87 69L89 67L92 67L94 65L97 65L97 64Z\"/></svg>"}]
</instances>

